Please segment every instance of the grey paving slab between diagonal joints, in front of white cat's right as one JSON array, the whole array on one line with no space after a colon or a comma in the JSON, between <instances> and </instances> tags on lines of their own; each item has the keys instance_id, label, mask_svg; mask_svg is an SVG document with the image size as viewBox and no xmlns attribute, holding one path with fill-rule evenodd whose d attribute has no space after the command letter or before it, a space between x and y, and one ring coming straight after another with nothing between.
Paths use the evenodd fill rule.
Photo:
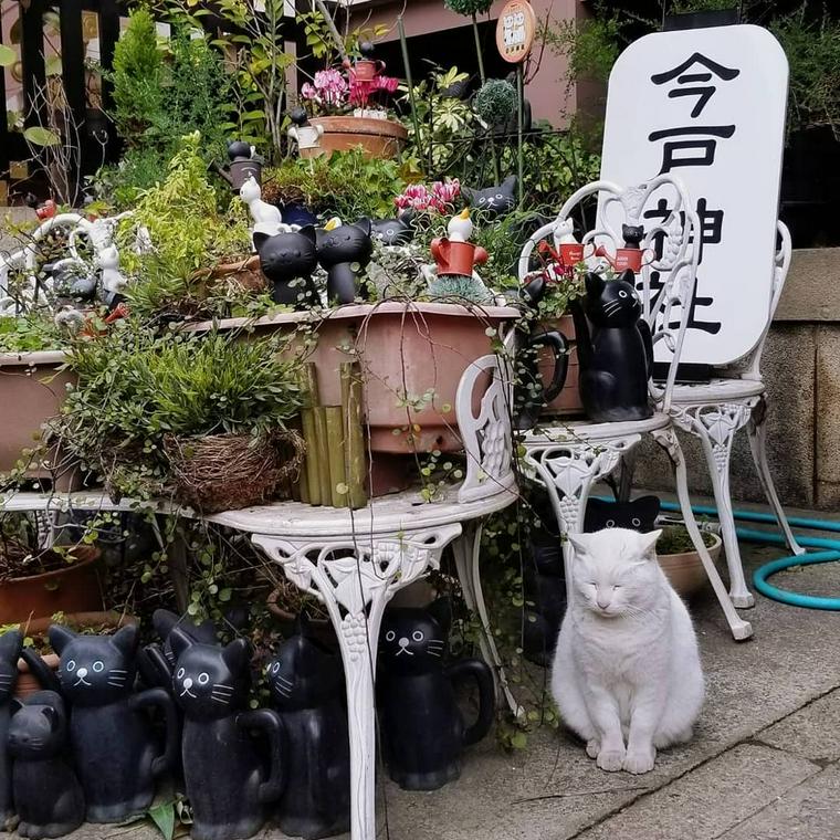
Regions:
<instances>
[{"instance_id":1,"label":"grey paving slab between diagonal joints, in front of white cat's right","mask_svg":"<svg viewBox=\"0 0 840 840\"><path fill-rule=\"evenodd\" d=\"M798 756L745 744L578 837L712 840L819 771Z\"/></svg>"}]
</instances>

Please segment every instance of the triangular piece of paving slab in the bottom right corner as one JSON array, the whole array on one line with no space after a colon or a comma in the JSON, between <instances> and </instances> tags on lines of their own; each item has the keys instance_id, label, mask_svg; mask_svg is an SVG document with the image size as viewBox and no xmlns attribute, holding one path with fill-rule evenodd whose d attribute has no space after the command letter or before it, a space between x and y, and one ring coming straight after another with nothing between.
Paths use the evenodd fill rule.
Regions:
<instances>
[{"instance_id":1,"label":"triangular piece of paving slab in the bottom right corner","mask_svg":"<svg viewBox=\"0 0 840 840\"><path fill-rule=\"evenodd\" d=\"M720 840L828 840L840 837L840 767L788 790Z\"/></svg>"}]
</instances>

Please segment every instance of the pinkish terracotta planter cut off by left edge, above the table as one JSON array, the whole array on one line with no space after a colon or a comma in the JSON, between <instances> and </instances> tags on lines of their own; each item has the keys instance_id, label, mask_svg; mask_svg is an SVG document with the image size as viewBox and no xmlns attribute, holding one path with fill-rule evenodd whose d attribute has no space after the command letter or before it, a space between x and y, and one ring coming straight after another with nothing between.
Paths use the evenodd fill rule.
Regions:
<instances>
[{"instance_id":1,"label":"pinkish terracotta planter cut off by left edge, above the table","mask_svg":"<svg viewBox=\"0 0 840 840\"><path fill-rule=\"evenodd\" d=\"M60 350L0 354L0 472L11 470L21 451L36 445L41 427L61 410L67 385L76 382L73 371L59 370L64 363ZM27 471L30 477L50 477L50 460L33 463ZM55 476L56 490L70 490L75 470L70 468Z\"/></svg>"}]
</instances>

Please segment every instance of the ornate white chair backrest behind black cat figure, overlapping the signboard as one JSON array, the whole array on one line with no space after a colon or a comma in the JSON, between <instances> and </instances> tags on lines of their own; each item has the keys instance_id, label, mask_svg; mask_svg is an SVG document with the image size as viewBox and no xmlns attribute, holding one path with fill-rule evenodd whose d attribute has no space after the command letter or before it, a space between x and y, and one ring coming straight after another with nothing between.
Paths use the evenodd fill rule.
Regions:
<instances>
[{"instance_id":1,"label":"ornate white chair backrest behind black cat figure, overlapping the signboard","mask_svg":"<svg viewBox=\"0 0 840 840\"><path fill-rule=\"evenodd\" d=\"M692 241L700 233L700 220L679 179L661 175L638 187L622 188L611 181L594 181L581 187L560 208L557 218L535 231L525 243L517 266L519 281L529 272L529 258L537 243L550 237L559 249L560 237L569 231L568 220L584 201L594 198L598 199L595 228L581 240L589 270L609 264L608 259L595 255L597 248L602 248L610 259L623 248L622 224L644 229L639 245L644 259L636 286L642 302L642 317L653 337L654 353L668 364L664 385L659 386L651 379L650 392L661 410L668 411L691 315L699 262L699 249ZM653 224L651 219L655 220Z\"/></svg>"}]
</instances>

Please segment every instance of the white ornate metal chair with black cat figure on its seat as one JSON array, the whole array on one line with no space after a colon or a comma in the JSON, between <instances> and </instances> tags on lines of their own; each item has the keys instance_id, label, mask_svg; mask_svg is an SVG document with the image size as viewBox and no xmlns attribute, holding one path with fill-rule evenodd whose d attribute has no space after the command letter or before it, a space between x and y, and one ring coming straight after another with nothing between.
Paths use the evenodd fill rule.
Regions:
<instances>
[{"instance_id":1,"label":"white ornate metal chair with black cat figure on its seat","mask_svg":"<svg viewBox=\"0 0 840 840\"><path fill-rule=\"evenodd\" d=\"M685 188L676 178L662 175L639 187L621 188L601 180L579 189L566 201L553 222L531 237L519 258L518 274L521 280L527 275L529 256L538 242L552 237L559 248L559 237L568 231L565 222L581 202L599 199L596 225L586 233L584 243L603 245L608 252L615 252L623 244L620 233L622 222L644 227L645 209L663 196L669 199L670 213L655 227L649 230L645 228L640 245L649 253L659 255L644 264L637 275L637 284L641 290L642 317L651 328L654 346L662 343L671 357L664 385L659 386L653 380L649 384L651 398L657 406L653 416L627 422L575 421L532 429L523 440L525 465L546 486L560 532L577 533L582 527L592 485L609 475L622 456L641 441L642 435L650 434L671 459L685 526L723 608L729 630L735 639L746 639L753 634L753 628L735 611L694 519L685 460L671 414L676 367L690 316L689 303L699 262L697 250L691 243L695 234L699 234L700 222ZM658 238L661 240L659 251L655 249ZM653 272L658 273L659 279L657 290L651 284ZM670 325L674 323L678 313L678 326L674 328ZM570 564L574 548L569 540L564 542L563 552L567 596L571 598Z\"/></svg>"}]
</instances>

